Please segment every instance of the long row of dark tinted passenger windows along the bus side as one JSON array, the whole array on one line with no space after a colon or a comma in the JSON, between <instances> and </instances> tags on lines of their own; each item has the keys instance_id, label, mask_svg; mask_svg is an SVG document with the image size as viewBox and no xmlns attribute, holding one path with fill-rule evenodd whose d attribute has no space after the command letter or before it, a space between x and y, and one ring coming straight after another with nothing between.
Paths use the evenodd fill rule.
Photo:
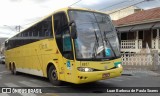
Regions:
<instances>
[{"instance_id":1,"label":"long row of dark tinted passenger windows along the bus side","mask_svg":"<svg viewBox=\"0 0 160 96\"><path fill-rule=\"evenodd\" d=\"M35 24L27 30L24 30L12 37L7 44L7 49L12 49L52 37L52 16L50 16L49 18L42 20L38 24Z\"/></svg>"}]
</instances>

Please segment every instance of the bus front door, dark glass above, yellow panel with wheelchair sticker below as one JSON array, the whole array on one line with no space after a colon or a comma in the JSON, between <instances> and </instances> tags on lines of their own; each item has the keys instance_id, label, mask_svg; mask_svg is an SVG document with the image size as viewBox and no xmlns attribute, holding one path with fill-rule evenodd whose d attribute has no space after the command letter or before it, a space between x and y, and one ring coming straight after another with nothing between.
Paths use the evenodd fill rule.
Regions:
<instances>
[{"instance_id":1,"label":"bus front door, dark glass above, yellow panel with wheelchair sticker below","mask_svg":"<svg viewBox=\"0 0 160 96\"><path fill-rule=\"evenodd\" d=\"M64 81L71 81L75 64L67 17L64 12L60 12L54 14L53 18L56 43L62 56L59 58L61 63L59 64L59 76Z\"/></svg>"}]
</instances>

